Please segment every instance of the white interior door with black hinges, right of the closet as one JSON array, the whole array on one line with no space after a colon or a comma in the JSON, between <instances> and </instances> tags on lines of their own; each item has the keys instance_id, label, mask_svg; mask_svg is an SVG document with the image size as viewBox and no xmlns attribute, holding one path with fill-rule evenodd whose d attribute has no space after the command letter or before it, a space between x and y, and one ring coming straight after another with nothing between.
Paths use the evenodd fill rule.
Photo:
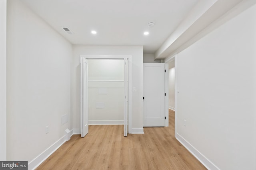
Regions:
<instances>
[{"instance_id":1,"label":"white interior door with black hinges, right of the closet","mask_svg":"<svg viewBox=\"0 0 256 170\"><path fill-rule=\"evenodd\" d=\"M143 126L165 125L165 64L143 64Z\"/></svg>"}]
</instances>

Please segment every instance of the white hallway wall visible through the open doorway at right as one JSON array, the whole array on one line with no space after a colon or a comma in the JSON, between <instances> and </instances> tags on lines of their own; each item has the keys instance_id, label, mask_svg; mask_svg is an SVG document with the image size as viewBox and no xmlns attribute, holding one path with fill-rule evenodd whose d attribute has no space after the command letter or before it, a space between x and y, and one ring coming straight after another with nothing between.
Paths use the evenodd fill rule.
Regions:
<instances>
[{"instance_id":1,"label":"white hallway wall visible through the open doorway at right","mask_svg":"<svg viewBox=\"0 0 256 170\"><path fill-rule=\"evenodd\" d=\"M174 61L171 61L169 64L169 78L168 78L168 86L169 86L169 109L175 111L175 66Z\"/></svg>"}]
</instances>

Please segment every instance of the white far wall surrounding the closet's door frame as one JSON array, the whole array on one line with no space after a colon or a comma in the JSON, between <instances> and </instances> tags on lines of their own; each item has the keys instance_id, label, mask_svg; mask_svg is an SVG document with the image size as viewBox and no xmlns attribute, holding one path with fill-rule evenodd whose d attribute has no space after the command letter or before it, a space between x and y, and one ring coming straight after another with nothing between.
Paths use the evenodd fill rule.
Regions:
<instances>
[{"instance_id":1,"label":"white far wall surrounding the closet's door frame","mask_svg":"<svg viewBox=\"0 0 256 170\"><path fill-rule=\"evenodd\" d=\"M132 55L132 133L143 133L143 47L74 45L71 69L72 128L79 129L79 56L80 55ZM129 125L131 123L129 122Z\"/></svg>"}]
</instances>

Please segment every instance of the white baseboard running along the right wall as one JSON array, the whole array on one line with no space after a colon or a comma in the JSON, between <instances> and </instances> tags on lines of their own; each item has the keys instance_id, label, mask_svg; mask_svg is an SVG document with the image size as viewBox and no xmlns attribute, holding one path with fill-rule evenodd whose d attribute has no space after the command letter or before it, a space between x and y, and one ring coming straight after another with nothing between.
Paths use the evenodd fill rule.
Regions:
<instances>
[{"instance_id":1,"label":"white baseboard running along the right wall","mask_svg":"<svg viewBox=\"0 0 256 170\"><path fill-rule=\"evenodd\" d=\"M199 160L208 170L220 170L216 165L214 165L210 160L208 160L203 154L201 154L197 149L195 149L188 141L186 141L182 136L176 133L176 139Z\"/></svg>"}]
</instances>

